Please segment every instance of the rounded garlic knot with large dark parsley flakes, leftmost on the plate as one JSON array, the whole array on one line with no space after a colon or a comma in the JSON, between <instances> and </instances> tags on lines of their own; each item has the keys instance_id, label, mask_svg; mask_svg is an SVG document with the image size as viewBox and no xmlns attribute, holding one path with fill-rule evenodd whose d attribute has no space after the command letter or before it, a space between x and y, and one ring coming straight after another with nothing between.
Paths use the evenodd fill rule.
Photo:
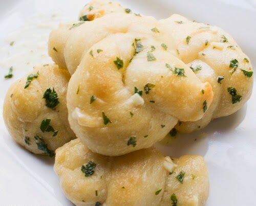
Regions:
<instances>
[{"instance_id":1,"label":"rounded garlic knot with large dark parsley flakes, leftmost on the plate","mask_svg":"<svg viewBox=\"0 0 256 206\"><path fill-rule=\"evenodd\" d=\"M69 79L66 69L47 64L35 66L10 86L3 115L18 144L33 153L53 156L55 149L75 138L66 103Z\"/></svg>"}]
</instances>

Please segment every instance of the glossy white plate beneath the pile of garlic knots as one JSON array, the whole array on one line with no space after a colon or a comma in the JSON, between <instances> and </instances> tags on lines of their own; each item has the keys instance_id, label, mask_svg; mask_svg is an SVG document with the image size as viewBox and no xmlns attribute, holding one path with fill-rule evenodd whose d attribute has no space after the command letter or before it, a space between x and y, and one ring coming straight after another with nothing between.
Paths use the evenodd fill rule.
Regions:
<instances>
[{"instance_id":1,"label":"glossy white plate beneath the pile of garlic knots","mask_svg":"<svg viewBox=\"0 0 256 206\"><path fill-rule=\"evenodd\" d=\"M15 144L5 128L2 107L11 82L32 70L34 64L51 61L47 56L47 39L51 29L60 21L76 19L80 8L87 2L0 0L0 205L72 205L62 194L53 172L54 159L32 155ZM120 2L136 12L156 18L180 13L217 25L238 41L250 57L254 70L256 68L254 0ZM15 41L13 47L10 47L10 41ZM10 66L14 67L14 77L4 80ZM234 115L214 120L199 132L178 134L175 140L169 138L158 144L164 154L200 154L205 157L210 178L207 206L255 205L255 103L254 86L251 99ZM166 145L166 142L169 143Z\"/></svg>"}]
</instances>

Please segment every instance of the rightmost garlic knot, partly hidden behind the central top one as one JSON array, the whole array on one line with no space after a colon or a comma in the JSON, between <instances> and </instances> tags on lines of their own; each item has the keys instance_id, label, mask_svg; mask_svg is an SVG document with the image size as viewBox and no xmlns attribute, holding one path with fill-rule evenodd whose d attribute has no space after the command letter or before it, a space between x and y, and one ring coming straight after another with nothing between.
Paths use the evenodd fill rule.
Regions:
<instances>
[{"instance_id":1,"label":"rightmost garlic knot, partly hidden behind the central top one","mask_svg":"<svg viewBox=\"0 0 256 206\"><path fill-rule=\"evenodd\" d=\"M179 131L203 128L212 119L231 115L248 101L253 85L252 65L228 33L178 14L160 20L160 24L172 33L179 58L202 82L209 82L214 91L212 104L203 118L179 123Z\"/></svg>"}]
</instances>

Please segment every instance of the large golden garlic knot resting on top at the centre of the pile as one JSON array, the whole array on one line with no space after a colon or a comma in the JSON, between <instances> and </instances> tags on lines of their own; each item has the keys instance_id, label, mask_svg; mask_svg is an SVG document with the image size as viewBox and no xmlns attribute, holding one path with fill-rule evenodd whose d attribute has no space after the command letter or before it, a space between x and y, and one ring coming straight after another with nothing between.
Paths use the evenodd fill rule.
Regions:
<instances>
[{"instance_id":1,"label":"large golden garlic knot resting on top at the centre of the pile","mask_svg":"<svg viewBox=\"0 0 256 206\"><path fill-rule=\"evenodd\" d=\"M135 39L143 45L136 55ZM67 94L76 136L93 152L111 156L151 147L178 120L200 119L211 100L209 83L201 83L161 43L138 34L113 34L94 44L71 77Z\"/></svg>"}]
</instances>

